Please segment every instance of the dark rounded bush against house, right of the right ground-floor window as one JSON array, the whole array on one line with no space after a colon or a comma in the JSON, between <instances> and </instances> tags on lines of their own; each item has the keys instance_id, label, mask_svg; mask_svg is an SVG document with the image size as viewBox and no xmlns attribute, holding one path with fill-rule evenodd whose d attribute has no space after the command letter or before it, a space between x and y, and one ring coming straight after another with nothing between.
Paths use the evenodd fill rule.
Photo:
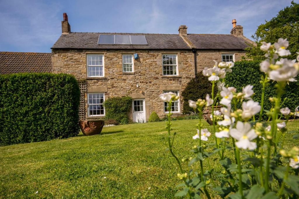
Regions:
<instances>
[{"instance_id":1,"label":"dark rounded bush against house, right of the right ground-floor window","mask_svg":"<svg viewBox=\"0 0 299 199\"><path fill-rule=\"evenodd\" d=\"M196 101L199 98L205 99L207 94L211 95L212 83L208 81L208 77L203 76L202 72L198 72L196 76L197 82L195 81L195 78L192 78L188 82L185 90L181 94L181 96L183 97L183 114L190 114L194 112L193 108L189 107L188 100ZM217 93L216 85L214 93Z\"/></svg>"}]
</instances>

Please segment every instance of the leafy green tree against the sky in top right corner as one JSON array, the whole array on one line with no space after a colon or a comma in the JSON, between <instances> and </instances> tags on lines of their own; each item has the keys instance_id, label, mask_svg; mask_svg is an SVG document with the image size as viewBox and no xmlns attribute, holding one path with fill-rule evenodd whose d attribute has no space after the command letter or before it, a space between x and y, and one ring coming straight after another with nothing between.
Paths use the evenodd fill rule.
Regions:
<instances>
[{"instance_id":1,"label":"leafy green tree against the sky in top right corner","mask_svg":"<svg viewBox=\"0 0 299 199\"><path fill-rule=\"evenodd\" d=\"M265 59L264 52L260 50L261 42L277 42L279 38L287 38L289 41L288 49L292 53L287 58L295 59L296 52L299 52L299 4L294 1L289 7L280 10L276 17L265 24L258 26L252 38L257 46L251 46L247 49L246 55L254 60Z\"/></svg>"}]
</instances>

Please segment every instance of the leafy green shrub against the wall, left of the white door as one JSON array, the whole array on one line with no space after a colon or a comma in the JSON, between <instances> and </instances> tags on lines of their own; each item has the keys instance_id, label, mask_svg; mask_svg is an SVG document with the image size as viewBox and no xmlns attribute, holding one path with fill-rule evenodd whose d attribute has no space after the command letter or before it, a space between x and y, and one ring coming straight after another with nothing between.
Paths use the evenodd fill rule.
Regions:
<instances>
[{"instance_id":1,"label":"leafy green shrub against the wall, left of the white door","mask_svg":"<svg viewBox=\"0 0 299 199\"><path fill-rule=\"evenodd\" d=\"M105 118L113 119L118 122L118 124L128 124L129 117L127 112L130 111L132 107L132 98L127 97L115 97L108 98L104 102L105 107Z\"/></svg>"}]
</instances>

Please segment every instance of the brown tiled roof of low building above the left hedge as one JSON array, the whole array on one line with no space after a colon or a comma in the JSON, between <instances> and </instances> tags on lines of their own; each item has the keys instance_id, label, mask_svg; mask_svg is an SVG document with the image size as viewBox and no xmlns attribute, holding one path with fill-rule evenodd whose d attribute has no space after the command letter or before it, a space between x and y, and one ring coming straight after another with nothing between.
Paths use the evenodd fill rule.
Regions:
<instances>
[{"instance_id":1,"label":"brown tiled roof of low building above the left hedge","mask_svg":"<svg viewBox=\"0 0 299 199\"><path fill-rule=\"evenodd\" d=\"M0 52L0 74L51 71L51 53Z\"/></svg>"}]
</instances>

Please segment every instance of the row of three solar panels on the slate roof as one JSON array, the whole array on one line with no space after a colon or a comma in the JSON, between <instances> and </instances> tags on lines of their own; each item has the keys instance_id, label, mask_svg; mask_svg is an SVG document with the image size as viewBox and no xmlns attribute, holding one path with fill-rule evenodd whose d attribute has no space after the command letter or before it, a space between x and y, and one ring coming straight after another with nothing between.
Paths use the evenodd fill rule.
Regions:
<instances>
[{"instance_id":1,"label":"row of three solar panels on the slate roof","mask_svg":"<svg viewBox=\"0 0 299 199\"><path fill-rule=\"evenodd\" d=\"M147 45L144 35L100 35L97 44Z\"/></svg>"}]
</instances>

